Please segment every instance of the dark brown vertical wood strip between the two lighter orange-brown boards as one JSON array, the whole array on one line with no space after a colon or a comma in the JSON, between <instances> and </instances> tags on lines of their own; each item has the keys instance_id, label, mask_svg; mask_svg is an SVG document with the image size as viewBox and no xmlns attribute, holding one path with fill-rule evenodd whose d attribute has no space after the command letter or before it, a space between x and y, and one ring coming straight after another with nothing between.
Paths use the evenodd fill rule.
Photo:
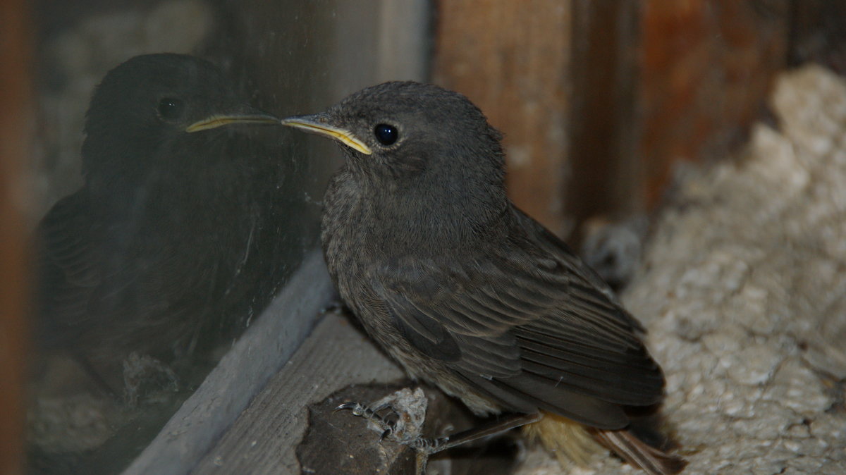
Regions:
<instances>
[{"instance_id":1,"label":"dark brown vertical wood strip between the two lighter orange-brown boards","mask_svg":"<svg viewBox=\"0 0 846 475\"><path fill-rule=\"evenodd\" d=\"M574 2L573 101L566 183L568 216L628 215L643 208L640 130L633 98L639 83L640 0Z\"/></svg>"}]
</instances>

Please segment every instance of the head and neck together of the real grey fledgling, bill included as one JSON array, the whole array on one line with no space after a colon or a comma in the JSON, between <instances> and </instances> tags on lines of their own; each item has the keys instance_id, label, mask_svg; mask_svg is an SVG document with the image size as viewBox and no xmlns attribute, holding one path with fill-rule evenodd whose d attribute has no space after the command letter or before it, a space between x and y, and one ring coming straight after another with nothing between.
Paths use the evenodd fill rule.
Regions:
<instances>
[{"instance_id":1,"label":"head and neck together of the real grey fledgling, bill included","mask_svg":"<svg viewBox=\"0 0 846 475\"><path fill-rule=\"evenodd\" d=\"M393 245L420 248L434 236L468 242L508 209L502 135L459 93L388 82L282 123L338 141L343 179L358 183L371 209L401 230L386 231Z\"/></svg>"}]
</instances>

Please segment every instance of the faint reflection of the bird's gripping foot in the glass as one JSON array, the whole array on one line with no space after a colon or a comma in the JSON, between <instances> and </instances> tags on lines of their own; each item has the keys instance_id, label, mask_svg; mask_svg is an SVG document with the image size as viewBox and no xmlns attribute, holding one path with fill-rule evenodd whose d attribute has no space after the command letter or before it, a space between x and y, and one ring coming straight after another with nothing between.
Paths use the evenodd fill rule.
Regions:
<instances>
[{"instance_id":1,"label":"faint reflection of the bird's gripping foot in the glass","mask_svg":"<svg viewBox=\"0 0 846 475\"><path fill-rule=\"evenodd\" d=\"M129 407L136 407L141 396L178 390L179 378L167 364L138 352L124 360L124 401Z\"/></svg>"}]
</instances>

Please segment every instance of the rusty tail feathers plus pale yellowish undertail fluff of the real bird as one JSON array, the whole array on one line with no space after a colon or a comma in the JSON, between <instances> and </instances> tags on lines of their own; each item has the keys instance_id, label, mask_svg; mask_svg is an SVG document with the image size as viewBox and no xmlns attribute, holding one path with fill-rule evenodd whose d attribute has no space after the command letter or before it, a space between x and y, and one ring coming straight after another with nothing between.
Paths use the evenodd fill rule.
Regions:
<instances>
[{"instance_id":1,"label":"rusty tail feathers plus pale yellowish undertail fluff of the real bird","mask_svg":"<svg viewBox=\"0 0 846 475\"><path fill-rule=\"evenodd\" d=\"M551 412L543 412L543 416L525 425L523 432L531 440L540 440L563 467L573 462L586 465L602 446L650 475L672 475L686 465L684 459L646 445L629 430L590 429Z\"/></svg>"}]
</instances>

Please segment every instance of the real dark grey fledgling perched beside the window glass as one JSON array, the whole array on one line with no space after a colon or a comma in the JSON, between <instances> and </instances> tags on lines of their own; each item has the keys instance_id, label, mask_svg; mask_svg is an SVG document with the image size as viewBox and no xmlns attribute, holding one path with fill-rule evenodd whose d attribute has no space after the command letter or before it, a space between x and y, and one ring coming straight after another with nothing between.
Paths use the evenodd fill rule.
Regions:
<instances>
[{"instance_id":1,"label":"real dark grey fledgling perched beside the window glass","mask_svg":"<svg viewBox=\"0 0 846 475\"><path fill-rule=\"evenodd\" d=\"M558 455L584 461L596 440L646 472L683 469L629 431L627 407L655 405L664 385L643 328L511 203L501 134L466 97L389 82L283 124L340 142L322 217L327 265L409 375L476 414L514 413L501 429L526 424Z\"/></svg>"}]
</instances>

